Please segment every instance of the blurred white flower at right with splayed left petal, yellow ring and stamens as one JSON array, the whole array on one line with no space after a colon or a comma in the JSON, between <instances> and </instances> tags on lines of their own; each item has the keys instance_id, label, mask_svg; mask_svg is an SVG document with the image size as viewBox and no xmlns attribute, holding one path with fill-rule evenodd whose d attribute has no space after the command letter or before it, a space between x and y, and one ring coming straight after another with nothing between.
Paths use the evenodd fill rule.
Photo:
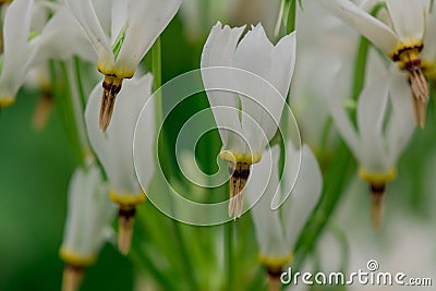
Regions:
<instances>
[{"instance_id":1,"label":"blurred white flower at right with splayed left petal, yellow ring and stamens","mask_svg":"<svg viewBox=\"0 0 436 291\"><path fill-rule=\"evenodd\" d=\"M371 185L373 222L380 223L380 204L386 184L397 175L397 160L415 125L410 87L399 72L384 72L367 83L359 97L356 129L341 97L331 92L331 117L360 163L359 174ZM390 102L389 102L390 101Z\"/></svg>"}]
</instances>

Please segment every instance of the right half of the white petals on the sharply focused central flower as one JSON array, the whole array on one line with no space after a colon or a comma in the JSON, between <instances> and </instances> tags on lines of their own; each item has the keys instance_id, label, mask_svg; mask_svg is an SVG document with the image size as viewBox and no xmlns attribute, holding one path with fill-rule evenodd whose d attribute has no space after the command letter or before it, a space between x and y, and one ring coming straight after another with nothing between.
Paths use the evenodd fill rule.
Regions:
<instances>
[{"instance_id":1,"label":"right half of the white petals on the sharply focused central flower","mask_svg":"<svg viewBox=\"0 0 436 291\"><path fill-rule=\"evenodd\" d=\"M292 36L290 38L284 39L283 43L279 44L280 46L277 50L275 50L275 47L268 40L264 28L259 24L256 27L252 27L252 31L241 40L235 51L235 68L254 74L239 73L235 80L239 92L243 93L240 94L242 111L247 113L247 116L242 116L242 129L251 135L249 141L253 145L257 145L261 153L266 143L276 133L280 122L286 96L281 96L280 92L274 87L272 77L276 78L276 73L279 72L275 72L272 75L272 71L284 71L284 76L282 77L290 77L289 72L293 71L292 54L294 53L294 41L292 41ZM291 54L280 56L282 63L278 65L276 60L286 47L290 49ZM274 82L277 85L281 85L282 90L286 89L282 80L274 80ZM290 83L290 78L288 82ZM253 123L246 117L254 119L257 124ZM258 129L262 131L259 132ZM264 135L266 138L264 138Z\"/></svg>"}]
</instances>

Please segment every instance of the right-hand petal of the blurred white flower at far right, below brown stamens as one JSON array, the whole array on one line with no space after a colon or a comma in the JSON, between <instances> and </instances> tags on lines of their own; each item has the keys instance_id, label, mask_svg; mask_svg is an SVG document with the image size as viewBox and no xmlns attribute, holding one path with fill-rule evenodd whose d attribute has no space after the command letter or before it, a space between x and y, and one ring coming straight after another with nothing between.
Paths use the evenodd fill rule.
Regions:
<instances>
[{"instance_id":1,"label":"right-hand petal of the blurred white flower at far right, below brown stamens","mask_svg":"<svg viewBox=\"0 0 436 291\"><path fill-rule=\"evenodd\" d=\"M386 130L389 157L395 165L404 150L415 130L412 93L407 76L393 73L390 80L390 100L392 111Z\"/></svg>"}]
</instances>

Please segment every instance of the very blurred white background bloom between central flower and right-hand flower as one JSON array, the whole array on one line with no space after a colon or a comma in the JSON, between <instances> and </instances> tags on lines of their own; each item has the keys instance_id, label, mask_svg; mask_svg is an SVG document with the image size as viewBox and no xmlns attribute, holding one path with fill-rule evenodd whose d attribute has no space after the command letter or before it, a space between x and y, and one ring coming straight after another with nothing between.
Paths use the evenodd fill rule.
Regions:
<instances>
[{"instance_id":1,"label":"very blurred white background bloom between central flower and right-hand flower","mask_svg":"<svg viewBox=\"0 0 436 291\"><path fill-rule=\"evenodd\" d=\"M359 35L344 26L340 20L329 14L318 1L306 1L304 9L296 10L296 59L295 73L291 87L292 112L299 123L302 140L315 154L334 150L338 142L337 132L326 126L329 121L326 88L337 83L331 69L338 63L347 70L336 84L336 94L343 96L349 92L348 84L353 77L353 64L358 51ZM323 153L320 153L323 151ZM320 161L322 162L322 161Z\"/></svg>"}]
</instances>

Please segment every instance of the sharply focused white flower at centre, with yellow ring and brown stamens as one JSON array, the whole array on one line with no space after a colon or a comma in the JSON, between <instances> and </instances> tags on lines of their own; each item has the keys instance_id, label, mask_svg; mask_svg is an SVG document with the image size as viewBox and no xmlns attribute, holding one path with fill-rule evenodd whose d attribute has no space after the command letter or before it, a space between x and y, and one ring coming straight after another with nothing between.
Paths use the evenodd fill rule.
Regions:
<instances>
[{"instance_id":1,"label":"sharply focused white flower at centre, with yellow ring and brown stamens","mask_svg":"<svg viewBox=\"0 0 436 291\"><path fill-rule=\"evenodd\" d=\"M229 160L233 170L231 198L244 187L250 166L261 160L266 144L277 131L295 63L294 33L274 46L258 24L238 44L244 28L215 25L201 63L222 141L220 157ZM214 69L217 66L227 70ZM213 90L217 88L230 92ZM242 194L231 199L229 215L241 216L242 203Z\"/></svg>"}]
</instances>

